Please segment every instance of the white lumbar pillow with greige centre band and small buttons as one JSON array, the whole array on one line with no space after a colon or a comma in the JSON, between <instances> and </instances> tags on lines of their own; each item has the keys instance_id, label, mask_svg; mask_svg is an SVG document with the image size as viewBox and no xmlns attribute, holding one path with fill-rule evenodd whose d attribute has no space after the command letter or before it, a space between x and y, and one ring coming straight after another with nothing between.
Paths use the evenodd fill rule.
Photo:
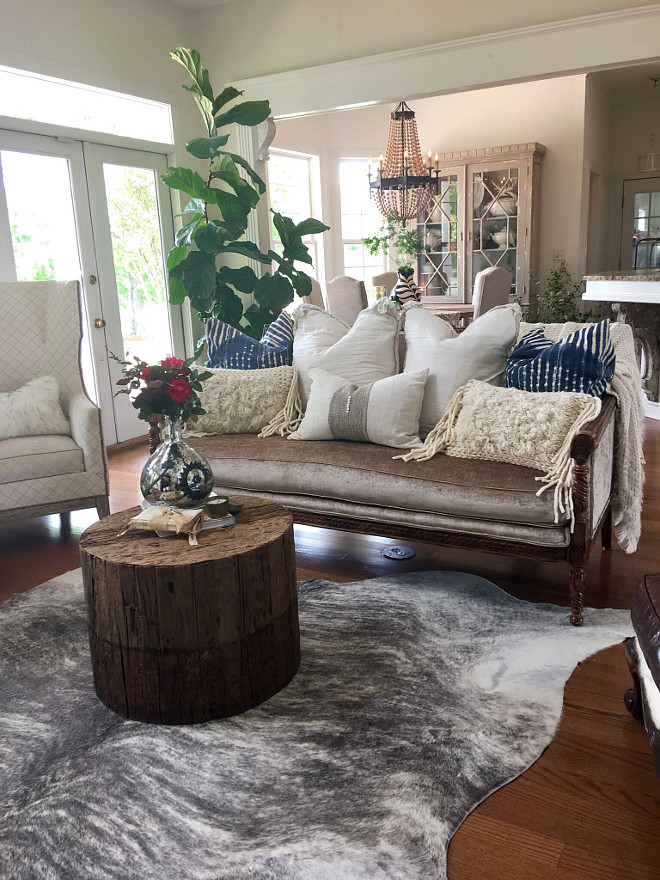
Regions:
<instances>
[{"instance_id":1,"label":"white lumbar pillow with greige centre band and small buttons","mask_svg":"<svg viewBox=\"0 0 660 880\"><path fill-rule=\"evenodd\" d=\"M300 427L289 440L358 440L411 449L421 444L419 414L428 370L358 385L312 369Z\"/></svg>"}]
</instances>

